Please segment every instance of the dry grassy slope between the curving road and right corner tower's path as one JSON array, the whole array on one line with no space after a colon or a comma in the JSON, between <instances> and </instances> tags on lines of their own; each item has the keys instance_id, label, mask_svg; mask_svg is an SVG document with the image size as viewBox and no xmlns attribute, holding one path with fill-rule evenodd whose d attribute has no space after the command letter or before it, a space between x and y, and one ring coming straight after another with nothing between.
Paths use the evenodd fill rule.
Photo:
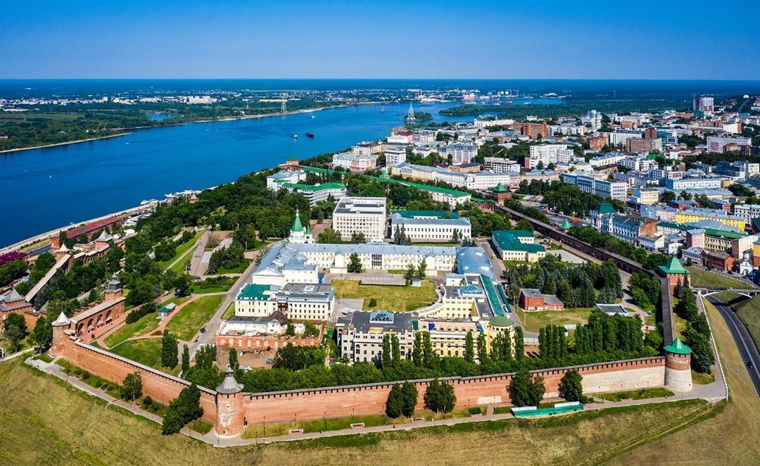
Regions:
<instances>
[{"instance_id":1,"label":"dry grassy slope between the curving road and right corner tower's path","mask_svg":"<svg viewBox=\"0 0 760 466\"><path fill-rule=\"evenodd\" d=\"M616 464L757 464L760 457L760 398L726 323L705 303L724 364L730 403L714 419L681 430L616 458Z\"/></svg>"}]
</instances>

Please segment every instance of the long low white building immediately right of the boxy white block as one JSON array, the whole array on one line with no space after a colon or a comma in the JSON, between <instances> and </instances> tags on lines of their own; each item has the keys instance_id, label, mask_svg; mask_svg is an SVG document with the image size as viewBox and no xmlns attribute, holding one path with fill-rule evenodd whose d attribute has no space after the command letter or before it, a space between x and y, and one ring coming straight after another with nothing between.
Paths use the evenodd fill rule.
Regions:
<instances>
[{"instance_id":1,"label":"long low white building immediately right of the boxy white block","mask_svg":"<svg viewBox=\"0 0 760 466\"><path fill-rule=\"evenodd\" d=\"M448 243L458 232L461 238L472 236L472 226L467 218L460 218L456 212L446 218L442 211L401 211L391 214L391 237L397 228L412 241L441 241Z\"/></svg>"}]
</instances>

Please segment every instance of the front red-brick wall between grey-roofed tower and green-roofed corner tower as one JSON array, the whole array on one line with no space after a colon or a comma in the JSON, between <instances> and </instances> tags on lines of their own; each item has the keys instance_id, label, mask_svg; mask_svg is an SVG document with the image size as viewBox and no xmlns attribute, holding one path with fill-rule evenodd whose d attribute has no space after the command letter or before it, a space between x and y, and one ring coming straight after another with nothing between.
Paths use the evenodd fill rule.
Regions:
<instances>
[{"instance_id":1,"label":"front red-brick wall between grey-roofed tower and green-roofed corner tower","mask_svg":"<svg viewBox=\"0 0 760 466\"><path fill-rule=\"evenodd\" d=\"M619 392L663 386L665 359L650 357L614 363L589 364L561 369L537 370L546 385L546 398L559 396L559 382L570 369L583 376L585 394ZM510 403L509 381L512 374L478 377L452 377L457 406ZM423 396L429 380L413 381L417 387L417 407L423 407ZM245 393L243 411L246 423L266 423L320 417L341 417L361 414L382 414L393 383L350 385L344 387L291 390L287 392Z\"/></svg>"}]
</instances>

